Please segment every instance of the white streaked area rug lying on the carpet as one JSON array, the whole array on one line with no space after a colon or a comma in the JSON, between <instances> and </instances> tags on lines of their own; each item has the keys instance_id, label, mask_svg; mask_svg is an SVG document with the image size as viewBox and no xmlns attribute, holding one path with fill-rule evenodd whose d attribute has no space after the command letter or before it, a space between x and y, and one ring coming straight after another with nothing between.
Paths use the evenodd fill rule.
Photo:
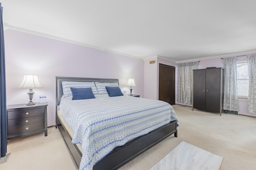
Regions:
<instances>
[{"instance_id":1,"label":"white streaked area rug lying on the carpet","mask_svg":"<svg viewBox=\"0 0 256 170\"><path fill-rule=\"evenodd\" d=\"M222 160L183 141L150 170L219 170Z\"/></svg>"}]
</instances>

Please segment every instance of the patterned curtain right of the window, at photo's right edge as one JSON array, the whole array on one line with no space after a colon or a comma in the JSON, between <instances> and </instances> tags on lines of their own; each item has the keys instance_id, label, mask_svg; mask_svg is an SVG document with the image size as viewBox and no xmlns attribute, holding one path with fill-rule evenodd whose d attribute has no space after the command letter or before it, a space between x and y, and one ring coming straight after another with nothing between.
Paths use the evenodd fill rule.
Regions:
<instances>
[{"instance_id":1,"label":"patterned curtain right of the window, at photo's right edge","mask_svg":"<svg viewBox=\"0 0 256 170\"><path fill-rule=\"evenodd\" d=\"M256 114L256 54L247 56L249 73L248 113Z\"/></svg>"}]
</instances>

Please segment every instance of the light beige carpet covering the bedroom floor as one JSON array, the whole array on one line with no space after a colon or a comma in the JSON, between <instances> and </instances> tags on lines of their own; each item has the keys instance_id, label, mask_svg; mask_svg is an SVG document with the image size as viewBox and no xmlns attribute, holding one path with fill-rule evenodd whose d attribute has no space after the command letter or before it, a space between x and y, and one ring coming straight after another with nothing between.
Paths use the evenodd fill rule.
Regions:
<instances>
[{"instance_id":1,"label":"light beige carpet covering the bedroom floor","mask_svg":"<svg viewBox=\"0 0 256 170\"><path fill-rule=\"evenodd\" d=\"M173 105L178 137L171 135L119 170L149 170L182 141L222 156L220 170L256 170L256 117L210 113ZM76 170L59 129L8 140L8 162L0 170Z\"/></svg>"}]
</instances>

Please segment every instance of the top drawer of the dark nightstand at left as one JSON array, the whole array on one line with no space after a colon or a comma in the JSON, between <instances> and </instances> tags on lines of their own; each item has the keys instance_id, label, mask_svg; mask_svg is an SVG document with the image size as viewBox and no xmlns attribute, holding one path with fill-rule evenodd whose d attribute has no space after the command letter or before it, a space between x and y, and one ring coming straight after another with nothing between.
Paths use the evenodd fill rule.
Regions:
<instances>
[{"instance_id":1,"label":"top drawer of the dark nightstand at left","mask_svg":"<svg viewBox=\"0 0 256 170\"><path fill-rule=\"evenodd\" d=\"M37 115L44 115L44 108L8 111L8 120L37 116Z\"/></svg>"}]
</instances>

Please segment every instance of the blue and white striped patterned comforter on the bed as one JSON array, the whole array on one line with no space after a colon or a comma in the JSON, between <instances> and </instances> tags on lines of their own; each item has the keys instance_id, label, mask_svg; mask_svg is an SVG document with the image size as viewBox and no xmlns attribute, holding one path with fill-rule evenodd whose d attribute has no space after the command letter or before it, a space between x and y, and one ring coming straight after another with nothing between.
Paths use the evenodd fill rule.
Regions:
<instances>
[{"instance_id":1,"label":"blue and white striped patterned comforter on the bed","mask_svg":"<svg viewBox=\"0 0 256 170\"><path fill-rule=\"evenodd\" d=\"M82 145L80 170L92 170L94 164L136 137L177 120L172 106L159 100L132 96L72 100L62 98L60 111L75 132L72 143Z\"/></svg>"}]
</instances>

